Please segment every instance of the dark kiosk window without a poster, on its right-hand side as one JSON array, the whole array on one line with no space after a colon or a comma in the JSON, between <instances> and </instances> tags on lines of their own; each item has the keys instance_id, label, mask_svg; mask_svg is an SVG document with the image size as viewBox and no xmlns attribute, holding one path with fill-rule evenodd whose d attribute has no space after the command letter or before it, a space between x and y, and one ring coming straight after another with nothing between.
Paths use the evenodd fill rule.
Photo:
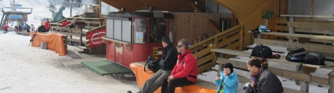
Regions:
<instances>
[{"instance_id":1,"label":"dark kiosk window without a poster, on its right-hand side","mask_svg":"<svg viewBox=\"0 0 334 93\"><path fill-rule=\"evenodd\" d=\"M167 36L166 18L150 19L150 43L161 43L161 39Z\"/></svg>"}]
</instances>

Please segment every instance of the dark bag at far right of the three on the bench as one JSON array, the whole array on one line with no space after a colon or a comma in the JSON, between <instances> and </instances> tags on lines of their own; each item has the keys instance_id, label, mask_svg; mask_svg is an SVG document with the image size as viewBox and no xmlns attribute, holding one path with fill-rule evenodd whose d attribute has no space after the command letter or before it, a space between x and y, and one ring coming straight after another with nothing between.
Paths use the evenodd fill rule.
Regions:
<instances>
[{"instance_id":1,"label":"dark bag at far right of the three on the bench","mask_svg":"<svg viewBox=\"0 0 334 93\"><path fill-rule=\"evenodd\" d=\"M310 53L305 56L304 63L313 65L325 65L325 55L318 53Z\"/></svg>"}]
</instances>

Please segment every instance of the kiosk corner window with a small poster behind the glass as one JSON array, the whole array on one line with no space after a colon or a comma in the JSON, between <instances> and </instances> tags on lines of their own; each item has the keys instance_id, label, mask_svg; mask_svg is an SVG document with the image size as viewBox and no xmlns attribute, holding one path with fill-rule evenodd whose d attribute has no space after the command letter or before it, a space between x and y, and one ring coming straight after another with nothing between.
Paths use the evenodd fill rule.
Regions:
<instances>
[{"instance_id":1,"label":"kiosk corner window with a small poster behind the glass","mask_svg":"<svg viewBox=\"0 0 334 93\"><path fill-rule=\"evenodd\" d=\"M135 44L146 44L147 42L147 20L133 19L133 35Z\"/></svg>"}]
</instances>

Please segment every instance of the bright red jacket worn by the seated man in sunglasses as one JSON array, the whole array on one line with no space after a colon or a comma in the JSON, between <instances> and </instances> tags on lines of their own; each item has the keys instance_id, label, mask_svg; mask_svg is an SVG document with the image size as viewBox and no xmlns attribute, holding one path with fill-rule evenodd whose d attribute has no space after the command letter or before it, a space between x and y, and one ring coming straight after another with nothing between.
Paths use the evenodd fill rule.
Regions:
<instances>
[{"instance_id":1,"label":"bright red jacket worn by the seated man in sunglasses","mask_svg":"<svg viewBox=\"0 0 334 93\"><path fill-rule=\"evenodd\" d=\"M197 59L189 49L177 56L177 62L171 74L174 78L188 78L191 82L196 82L196 78L191 76L198 75Z\"/></svg>"}]
</instances>

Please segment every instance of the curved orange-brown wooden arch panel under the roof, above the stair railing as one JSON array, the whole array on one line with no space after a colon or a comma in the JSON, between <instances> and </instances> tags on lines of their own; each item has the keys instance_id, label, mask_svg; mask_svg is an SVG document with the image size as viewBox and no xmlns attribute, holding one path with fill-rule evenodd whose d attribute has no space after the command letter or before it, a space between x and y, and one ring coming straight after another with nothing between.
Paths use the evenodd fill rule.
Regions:
<instances>
[{"instance_id":1,"label":"curved orange-brown wooden arch panel under the roof, above the stair railing","mask_svg":"<svg viewBox=\"0 0 334 93\"><path fill-rule=\"evenodd\" d=\"M264 18L262 14L269 10L275 13L276 0L213 0L218 4L224 6L232 12L239 21L240 24L244 24L243 36L244 36L244 46L251 45L251 36L248 31L251 31L264 24ZM274 17L276 14L274 15ZM273 17L273 18L274 18ZM268 28L273 29L274 20L268 20Z\"/></svg>"}]
</instances>

